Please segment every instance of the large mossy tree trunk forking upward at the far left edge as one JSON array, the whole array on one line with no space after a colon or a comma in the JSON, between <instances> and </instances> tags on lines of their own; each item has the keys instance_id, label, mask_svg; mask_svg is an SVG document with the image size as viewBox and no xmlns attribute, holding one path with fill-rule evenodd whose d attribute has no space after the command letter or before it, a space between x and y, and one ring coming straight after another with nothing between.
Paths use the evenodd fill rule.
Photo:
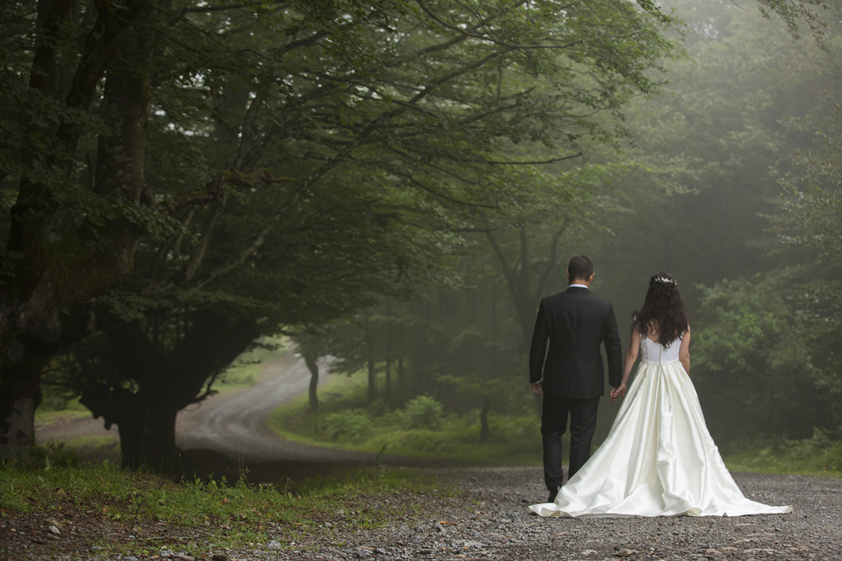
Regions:
<instances>
[{"instance_id":1,"label":"large mossy tree trunk forking upward at the far left edge","mask_svg":"<svg viewBox=\"0 0 842 561\"><path fill-rule=\"evenodd\" d=\"M101 107L110 131L99 139L92 186L98 195L129 206L154 207L143 177L155 37L151 24L168 3L165 0L162 6L154 0L126 0L119 6L96 3L96 9L92 3L86 19L93 19L91 13L95 13L95 21L78 53L62 51L61 47L67 45L67 26L78 23L77 0L38 3L40 35L29 86L68 110L85 112L106 77ZM64 119L55 130L42 126L38 132L44 139L45 153L33 158L42 158L46 168L65 175L55 181L68 182L82 125L78 120ZM55 192L55 184L24 175L10 211L8 250L19 258L13 275L0 279L0 356L10 357L0 365L3 458L29 448L35 436L35 408L40 403L40 367L16 359L37 354L43 363L60 347L59 342L67 345L88 333L83 329L45 339L41 327L59 310L98 296L124 279L131 271L136 239L141 233L125 216L94 223L83 215L62 212L66 201L56 200ZM216 193L212 193L210 199L179 200L165 211L215 198Z\"/></svg>"}]
</instances>

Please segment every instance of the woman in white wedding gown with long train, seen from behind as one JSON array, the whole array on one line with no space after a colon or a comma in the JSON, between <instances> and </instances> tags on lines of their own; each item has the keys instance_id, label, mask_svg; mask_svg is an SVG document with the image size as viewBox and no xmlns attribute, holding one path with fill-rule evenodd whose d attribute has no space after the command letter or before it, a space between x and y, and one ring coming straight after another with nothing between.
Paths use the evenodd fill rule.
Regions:
<instances>
[{"instance_id":1,"label":"woman in white wedding gown with long train, seen from behind","mask_svg":"<svg viewBox=\"0 0 842 561\"><path fill-rule=\"evenodd\" d=\"M635 312L622 382L641 364L608 437L558 492L531 505L541 516L742 516L791 512L746 499L728 473L701 413L690 371L690 323L669 273L649 280Z\"/></svg>"}]
</instances>

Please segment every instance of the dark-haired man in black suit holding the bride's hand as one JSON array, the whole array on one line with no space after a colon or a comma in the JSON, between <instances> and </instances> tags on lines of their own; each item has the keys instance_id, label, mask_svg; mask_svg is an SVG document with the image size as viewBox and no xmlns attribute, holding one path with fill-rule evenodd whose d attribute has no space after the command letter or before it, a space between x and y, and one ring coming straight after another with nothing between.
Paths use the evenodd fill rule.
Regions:
<instances>
[{"instance_id":1,"label":"dark-haired man in black suit holding the bride's hand","mask_svg":"<svg viewBox=\"0 0 842 561\"><path fill-rule=\"evenodd\" d=\"M622 379L620 334L611 302L590 293L594 261L584 255L570 259L568 290L541 300L529 356L532 391L544 396L541 435L544 482L552 503L562 486L562 435L570 416L568 480L590 457L596 428L596 408L605 394L600 345L608 355L608 381ZM546 341L550 352L546 353ZM546 361L544 356L546 355ZM542 372L543 370L543 372Z\"/></svg>"}]
</instances>

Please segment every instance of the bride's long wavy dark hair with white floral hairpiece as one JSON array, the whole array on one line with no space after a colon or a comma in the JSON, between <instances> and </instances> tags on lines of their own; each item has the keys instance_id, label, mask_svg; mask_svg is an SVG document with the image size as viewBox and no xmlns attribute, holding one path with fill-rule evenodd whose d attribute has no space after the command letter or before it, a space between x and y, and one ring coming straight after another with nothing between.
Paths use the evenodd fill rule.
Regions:
<instances>
[{"instance_id":1,"label":"bride's long wavy dark hair with white floral hairpiece","mask_svg":"<svg viewBox=\"0 0 842 561\"><path fill-rule=\"evenodd\" d=\"M687 330L690 318L681 301L678 282L669 273L657 273L649 279L649 290L643 307L632 314L634 325L643 337L649 329L658 329L658 340L668 345Z\"/></svg>"}]
</instances>

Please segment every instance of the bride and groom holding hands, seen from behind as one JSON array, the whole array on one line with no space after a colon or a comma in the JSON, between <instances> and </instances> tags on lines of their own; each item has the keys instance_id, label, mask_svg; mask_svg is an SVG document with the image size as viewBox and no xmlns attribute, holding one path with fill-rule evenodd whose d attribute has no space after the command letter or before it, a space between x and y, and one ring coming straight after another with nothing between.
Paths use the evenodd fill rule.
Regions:
<instances>
[{"instance_id":1,"label":"bride and groom holding hands, seen from behind","mask_svg":"<svg viewBox=\"0 0 842 561\"><path fill-rule=\"evenodd\" d=\"M742 516L791 512L746 499L728 473L690 382L690 320L669 273L649 280L633 315L622 360L611 303L589 290L594 262L568 264L566 291L545 297L530 349L532 390L543 397L544 480L540 516ZM547 343L549 351L547 352ZM612 401L623 399L594 456L591 441L605 393L605 345ZM631 384L632 366L641 363ZM562 435L570 420L568 482L562 486Z\"/></svg>"}]
</instances>

